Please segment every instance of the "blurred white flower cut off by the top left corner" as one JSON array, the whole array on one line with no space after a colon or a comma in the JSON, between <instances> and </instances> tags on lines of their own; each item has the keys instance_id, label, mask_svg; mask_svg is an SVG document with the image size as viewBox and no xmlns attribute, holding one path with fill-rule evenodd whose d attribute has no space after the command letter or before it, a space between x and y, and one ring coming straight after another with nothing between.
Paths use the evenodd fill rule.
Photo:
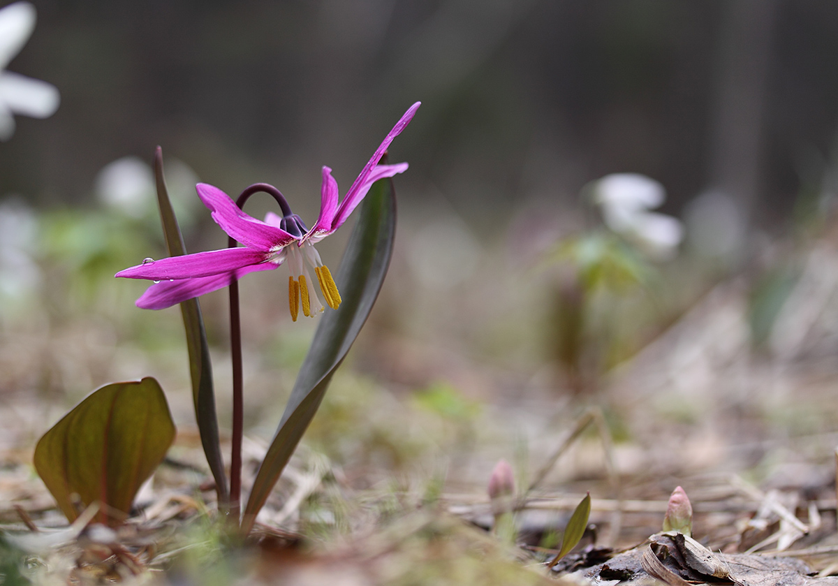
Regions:
<instances>
[{"instance_id":1,"label":"blurred white flower cut off by the top left corner","mask_svg":"<svg viewBox=\"0 0 838 586\"><path fill-rule=\"evenodd\" d=\"M14 134L14 114L47 118L61 100L55 86L46 81L6 71L35 28L35 7L16 2L0 9L0 140Z\"/></svg>"}]
</instances>

